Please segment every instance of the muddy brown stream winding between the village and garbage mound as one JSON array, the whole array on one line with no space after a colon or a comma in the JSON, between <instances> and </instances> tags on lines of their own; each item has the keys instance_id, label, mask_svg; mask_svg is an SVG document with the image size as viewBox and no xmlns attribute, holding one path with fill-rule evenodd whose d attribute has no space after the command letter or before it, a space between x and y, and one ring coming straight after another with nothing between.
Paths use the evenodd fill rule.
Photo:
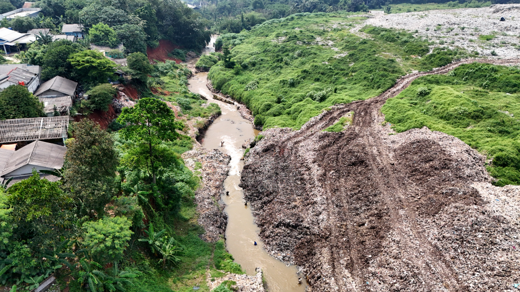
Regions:
<instances>
[{"instance_id":1,"label":"muddy brown stream winding between the village and garbage mound","mask_svg":"<svg viewBox=\"0 0 520 292\"><path fill-rule=\"evenodd\" d=\"M214 51L214 42L215 37L212 37L209 47L203 50L203 54ZM190 60L188 63L194 65L195 62L197 59ZM259 229L254 223L251 209L249 205L244 205L242 188L238 186L244 167L244 162L240 160L244 154L242 144L245 140L253 139L259 131L253 129L251 122L240 115L236 105L213 99L213 94L206 84L207 72L201 72L189 79L188 88L191 92L206 97L210 102L217 103L222 110L222 115L207 129L202 147L219 149L231 156L229 174L224 181L229 196L222 197L226 204L224 211L228 215L226 247L248 275L254 275L256 267L263 269L269 292L305 291L306 282L303 275L297 274L296 267L285 266L282 261L271 257L263 248L264 244L258 237ZM222 141L224 146L220 147ZM258 245L255 246L254 242ZM302 277L302 284L298 284L298 276Z\"/></svg>"}]
</instances>

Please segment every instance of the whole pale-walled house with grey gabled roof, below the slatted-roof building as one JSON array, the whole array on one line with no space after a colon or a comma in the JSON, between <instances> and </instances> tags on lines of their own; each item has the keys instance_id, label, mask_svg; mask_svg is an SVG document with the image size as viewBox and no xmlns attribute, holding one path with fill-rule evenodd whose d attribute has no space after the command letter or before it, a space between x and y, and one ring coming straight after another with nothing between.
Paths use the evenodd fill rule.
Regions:
<instances>
[{"instance_id":1,"label":"whole pale-walled house with grey gabled roof, below the slatted-roof building","mask_svg":"<svg viewBox=\"0 0 520 292\"><path fill-rule=\"evenodd\" d=\"M58 177L48 176L41 170L55 170L63 167L67 147L36 140L16 151L0 149L0 182L13 178L20 181L32 175L33 169L40 177L57 181ZM14 182L11 182L14 183Z\"/></svg>"}]
</instances>

